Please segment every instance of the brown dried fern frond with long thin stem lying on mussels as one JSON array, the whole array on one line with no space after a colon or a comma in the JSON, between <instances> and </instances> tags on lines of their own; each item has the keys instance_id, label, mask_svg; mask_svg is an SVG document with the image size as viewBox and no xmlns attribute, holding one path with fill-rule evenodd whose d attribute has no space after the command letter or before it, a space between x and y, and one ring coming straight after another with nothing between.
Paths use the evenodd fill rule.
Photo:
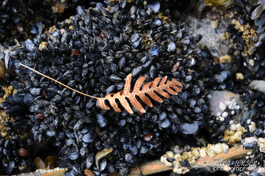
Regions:
<instances>
[{"instance_id":1,"label":"brown dried fern frond with long thin stem lying on mussels","mask_svg":"<svg viewBox=\"0 0 265 176\"><path fill-rule=\"evenodd\" d=\"M125 80L125 85L124 85L124 89L118 93L111 93L106 95L104 98L99 98L99 97L94 97L91 95L87 95L84 94L82 92L79 92L49 76L46 76L43 73L40 73L36 70L34 70L33 68L30 68L22 63L19 63L20 65L44 76L47 77L65 87L67 87L68 89L71 89L75 92L78 92L82 95L91 97L91 98L95 98L97 99L97 104L98 106L102 109L102 110L110 110L110 108L105 104L105 100L107 100L110 104L110 106L113 108L113 110L115 112L121 112L121 110L118 108L118 104L116 103L116 99L118 99L118 101L120 102L120 104L123 106L123 108L128 111L128 113L133 114L133 111L128 103L128 101L126 100L126 98L129 99L129 101L131 102L131 104L141 113L145 113L145 109L142 107L142 105L138 102L138 100L135 98L135 96L138 96L146 105L150 106L151 108L153 107L153 104L151 103L150 99L145 95L148 94L152 99L154 99L155 101L162 103L163 100L162 98L160 98L155 92L159 93L160 95L162 95L165 98L170 98L170 94L173 95L177 95L178 92L181 92L182 90L182 84L180 82L178 82L176 79L172 79L172 81L167 81L167 76L161 78L156 78L153 82L147 82L143 85L142 90L140 90L144 80L145 80L145 76L140 77L138 80L136 80L134 88L132 93L130 93L130 88L131 88L131 77L132 74L128 74ZM160 81L160 83L159 83ZM167 81L167 83L166 83ZM158 85L159 83L159 85ZM166 83L166 84L165 84ZM151 86L151 87L150 87ZM171 89L172 88L172 89ZM167 92L163 91L166 90Z\"/></svg>"}]
</instances>

